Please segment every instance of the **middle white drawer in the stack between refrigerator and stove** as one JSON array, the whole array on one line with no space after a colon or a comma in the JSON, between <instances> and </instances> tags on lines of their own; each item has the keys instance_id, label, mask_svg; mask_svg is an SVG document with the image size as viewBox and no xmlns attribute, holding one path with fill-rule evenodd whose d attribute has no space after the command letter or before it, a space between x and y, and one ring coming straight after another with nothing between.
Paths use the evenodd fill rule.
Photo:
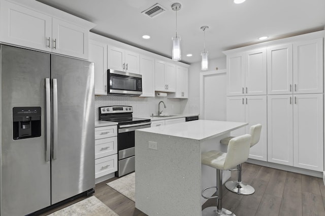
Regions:
<instances>
[{"instance_id":1,"label":"middle white drawer in the stack between refrigerator and stove","mask_svg":"<svg viewBox=\"0 0 325 216\"><path fill-rule=\"evenodd\" d=\"M117 153L117 137L95 140L95 159Z\"/></svg>"}]
</instances>

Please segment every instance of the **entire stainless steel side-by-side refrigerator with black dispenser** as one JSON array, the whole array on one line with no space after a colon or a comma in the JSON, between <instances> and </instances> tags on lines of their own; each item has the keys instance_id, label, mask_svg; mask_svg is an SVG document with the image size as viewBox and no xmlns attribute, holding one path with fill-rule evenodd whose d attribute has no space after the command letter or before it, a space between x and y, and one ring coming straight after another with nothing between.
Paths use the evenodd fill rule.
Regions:
<instances>
[{"instance_id":1,"label":"entire stainless steel side-by-side refrigerator with black dispenser","mask_svg":"<svg viewBox=\"0 0 325 216\"><path fill-rule=\"evenodd\" d=\"M93 63L0 50L0 215L29 214L93 191Z\"/></svg>"}]
</instances>

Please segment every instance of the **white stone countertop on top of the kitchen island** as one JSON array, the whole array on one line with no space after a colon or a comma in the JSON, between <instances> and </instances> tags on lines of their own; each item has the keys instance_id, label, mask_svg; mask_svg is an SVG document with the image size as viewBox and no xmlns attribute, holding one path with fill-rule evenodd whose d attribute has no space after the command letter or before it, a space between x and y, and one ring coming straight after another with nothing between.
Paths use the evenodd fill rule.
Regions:
<instances>
[{"instance_id":1,"label":"white stone countertop on top of the kitchen island","mask_svg":"<svg viewBox=\"0 0 325 216\"><path fill-rule=\"evenodd\" d=\"M245 122L196 120L177 124L148 127L137 131L181 137L193 140L205 140L229 133L234 129L248 125Z\"/></svg>"}]
</instances>

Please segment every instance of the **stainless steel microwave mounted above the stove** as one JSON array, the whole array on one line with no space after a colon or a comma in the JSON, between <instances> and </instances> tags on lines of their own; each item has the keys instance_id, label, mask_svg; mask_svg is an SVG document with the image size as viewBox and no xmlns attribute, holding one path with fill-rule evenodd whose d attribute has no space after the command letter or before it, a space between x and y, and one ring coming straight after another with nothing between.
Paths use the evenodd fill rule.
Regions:
<instances>
[{"instance_id":1,"label":"stainless steel microwave mounted above the stove","mask_svg":"<svg viewBox=\"0 0 325 216\"><path fill-rule=\"evenodd\" d=\"M139 96L142 94L142 75L119 70L107 70L108 95Z\"/></svg>"}]
</instances>

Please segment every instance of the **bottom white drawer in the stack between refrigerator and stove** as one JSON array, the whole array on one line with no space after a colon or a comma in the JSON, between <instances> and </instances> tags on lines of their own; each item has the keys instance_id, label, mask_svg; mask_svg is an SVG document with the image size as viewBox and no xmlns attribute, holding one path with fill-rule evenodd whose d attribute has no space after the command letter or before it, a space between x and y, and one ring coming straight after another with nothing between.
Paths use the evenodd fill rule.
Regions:
<instances>
[{"instance_id":1,"label":"bottom white drawer in the stack between refrigerator and stove","mask_svg":"<svg viewBox=\"0 0 325 216\"><path fill-rule=\"evenodd\" d=\"M117 154L95 159L95 179L117 171Z\"/></svg>"}]
</instances>

